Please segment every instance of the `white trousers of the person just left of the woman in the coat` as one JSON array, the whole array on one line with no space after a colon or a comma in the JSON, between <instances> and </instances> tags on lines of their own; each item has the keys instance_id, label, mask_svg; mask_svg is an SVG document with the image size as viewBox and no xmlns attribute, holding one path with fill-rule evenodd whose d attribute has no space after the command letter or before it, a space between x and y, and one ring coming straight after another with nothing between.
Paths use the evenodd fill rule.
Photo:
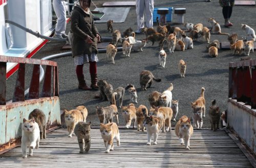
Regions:
<instances>
[{"instance_id":1,"label":"white trousers of the person just left of the woman in the coat","mask_svg":"<svg viewBox=\"0 0 256 168\"><path fill-rule=\"evenodd\" d=\"M57 15L57 24L55 26L55 34L56 35L65 34L66 24L67 24L65 1L53 0L52 5L53 5L54 12Z\"/></svg>"}]
</instances>

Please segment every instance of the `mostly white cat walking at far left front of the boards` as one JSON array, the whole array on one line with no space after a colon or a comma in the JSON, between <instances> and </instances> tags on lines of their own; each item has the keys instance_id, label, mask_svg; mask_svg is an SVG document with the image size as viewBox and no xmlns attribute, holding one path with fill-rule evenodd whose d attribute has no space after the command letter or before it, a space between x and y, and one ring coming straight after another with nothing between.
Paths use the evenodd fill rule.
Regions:
<instances>
[{"instance_id":1,"label":"mostly white cat walking at far left front of the boards","mask_svg":"<svg viewBox=\"0 0 256 168\"><path fill-rule=\"evenodd\" d=\"M29 147L29 156L33 156L33 149L39 148L40 130L35 119L23 119L22 123L22 157L27 158L27 146Z\"/></svg>"}]
</instances>

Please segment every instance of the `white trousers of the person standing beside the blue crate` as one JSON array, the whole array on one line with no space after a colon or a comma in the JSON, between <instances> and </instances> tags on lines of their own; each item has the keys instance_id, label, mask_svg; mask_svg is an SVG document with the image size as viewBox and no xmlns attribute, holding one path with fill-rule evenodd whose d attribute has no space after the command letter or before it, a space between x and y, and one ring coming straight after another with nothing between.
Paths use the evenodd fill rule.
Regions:
<instances>
[{"instance_id":1,"label":"white trousers of the person standing beside the blue crate","mask_svg":"<svg viewBox=\"0 0 256 168\"><path fill-rule=\"evenodd\" d=\"M144 27L144 11L146 14L146 26L153 27L154 0L136 0L136 13L138 30Z\"/></svg>"}]
</instances>

